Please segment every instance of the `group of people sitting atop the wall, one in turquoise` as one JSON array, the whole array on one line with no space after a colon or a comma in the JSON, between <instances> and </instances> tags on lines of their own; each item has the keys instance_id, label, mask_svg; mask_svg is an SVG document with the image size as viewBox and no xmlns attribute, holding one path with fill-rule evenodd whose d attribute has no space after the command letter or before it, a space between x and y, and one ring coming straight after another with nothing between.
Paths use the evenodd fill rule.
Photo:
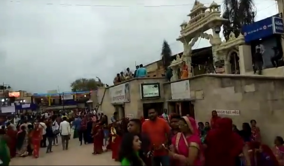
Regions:
<instances>
[{"instance_id":1,"label":"group of people sitting atop the wall, one in turquoise","mask_svg":"<svg viewBox=\"0 0 284 166\"><path fill-rule=\"evenodd\" d=\"M126 72L117 73L116 77L114 77L113 79L113 84L116 85L131 78L137 78L137 77L147 77L147 70L143 66L143 64L136 66L134 72L131 72L130 68L128 67L126 68Z\"/></svg>"}]
</instances>

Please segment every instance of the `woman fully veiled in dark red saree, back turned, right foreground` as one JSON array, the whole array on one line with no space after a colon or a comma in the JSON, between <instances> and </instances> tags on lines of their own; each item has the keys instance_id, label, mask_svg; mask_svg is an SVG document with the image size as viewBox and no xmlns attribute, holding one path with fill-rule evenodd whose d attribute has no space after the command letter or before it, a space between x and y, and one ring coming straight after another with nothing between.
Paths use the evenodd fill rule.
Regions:
<instances>
[{"instance_id":1,"label":"woman fully veiled in dark red saree, back turned, right foreground","mask_svg":"<svg viewBox=\"0 0 284 166\"><path fill-rule=\"evenodd\" d=\"M205 138L205 165L236 165L242 151L250 165L248 148L245 148L242 138L233 132L232 125L230 118L221 118L217 121L216 128L208 132Z\"/></svg>"}]
</instances>

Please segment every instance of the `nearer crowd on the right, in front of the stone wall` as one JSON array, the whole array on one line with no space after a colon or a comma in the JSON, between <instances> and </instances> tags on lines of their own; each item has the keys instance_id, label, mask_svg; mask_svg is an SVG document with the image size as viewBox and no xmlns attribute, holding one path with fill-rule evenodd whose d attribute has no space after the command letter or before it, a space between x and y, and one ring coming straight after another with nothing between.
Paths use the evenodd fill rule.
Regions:
<instances>
[{"instance_id":1,"label":"nearer crowd on the right, in front of the stone wall","mask_svg":"<svg viewBox=\"0 0 284 166\"><path fill-rule=\"evenodd\" d=\"M284 165L283 138L276 136L272 148L263 144L255 120L238 130L216 111L205 125L179 114L158 117L152 108L148 115L121 123L112 117L110 148L121 165Z\"/></svg>"}]
</instances>

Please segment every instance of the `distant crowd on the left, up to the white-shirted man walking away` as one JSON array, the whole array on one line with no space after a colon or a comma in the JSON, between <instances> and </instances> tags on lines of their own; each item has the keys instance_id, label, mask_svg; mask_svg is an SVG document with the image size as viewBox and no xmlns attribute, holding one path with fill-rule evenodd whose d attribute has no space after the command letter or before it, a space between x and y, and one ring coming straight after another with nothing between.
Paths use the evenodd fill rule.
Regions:
<instances>
[{"instance_id":1,"label":"distant crowd on the left, up to the white-shirted man walking away","mask_svg":"<svg viewBox=\"0 0 284 166\"><path fill-rule=\"evenodd\" d=\"M25 113L0 119L0 165L9 165L13 157L39 157L40 148L52 153L61 138L62 149L68 150L72 123L76 114L94 114L94 111L50 111ZM75 126L74 126L75 127ZM86 138L84 138L87 140ZM88 140L88 142L92 142ZM8 149L6 151L5 149ZM8 152L8 153L7 153Z\"/></svg>"}]
</instances>

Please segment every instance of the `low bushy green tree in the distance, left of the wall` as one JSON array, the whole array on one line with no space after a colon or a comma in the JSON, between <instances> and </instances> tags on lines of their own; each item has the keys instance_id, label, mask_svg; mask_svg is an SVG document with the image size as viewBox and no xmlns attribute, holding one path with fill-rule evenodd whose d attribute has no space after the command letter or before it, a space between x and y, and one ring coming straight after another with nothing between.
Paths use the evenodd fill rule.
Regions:
<instances>
[{"instance_id":1,"label":"low bushy green tree in the distance, left of the wall","mask_svg":"<svg viewBox=\"0 0 284 166\"><path fill-rule=\"evenodd\" d=\"M70 84L72 91L91 91L101 86L104 86L104 84L100 80L96 81L93 78L79 78Z\"/></svg>"}]
</instances>

